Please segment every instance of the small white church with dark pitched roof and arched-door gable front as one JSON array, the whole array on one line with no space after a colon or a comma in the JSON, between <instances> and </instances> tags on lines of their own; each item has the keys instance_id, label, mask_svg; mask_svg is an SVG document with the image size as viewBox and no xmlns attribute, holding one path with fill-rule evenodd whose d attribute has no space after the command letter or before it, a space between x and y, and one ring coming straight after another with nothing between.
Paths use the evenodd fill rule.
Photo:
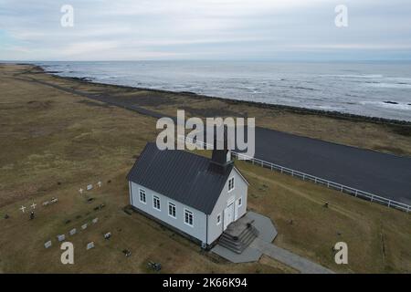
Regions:
<instances>
[{"instance_id":1,"label":"small white church with dark pitched roof and arched-door gable front","mask_svg":"<svg viewBox=\"0 0 411 292\"><path fill-rule=\"evenodd\" d=\"M134 210L203 247L247 213L248 182L227 149L210 159L147 143L127 178Z\"/></svg>"}]
</instances>

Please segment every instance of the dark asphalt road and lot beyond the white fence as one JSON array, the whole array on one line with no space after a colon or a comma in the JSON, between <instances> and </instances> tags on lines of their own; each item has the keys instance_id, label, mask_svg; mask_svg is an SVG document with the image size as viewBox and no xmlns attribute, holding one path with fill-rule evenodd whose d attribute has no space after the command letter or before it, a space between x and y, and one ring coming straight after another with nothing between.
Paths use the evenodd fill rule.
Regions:
<instances>
[{"instance_id":1,"label":"dark asphalt road and lot beyond the white fence","mask_svg":"<svg viewBox=\"0 0 411 292\"><path fill-rule=\"evenodd\" d=\"M163 117L161 113L143 109L111 96L68 89L35 78L24 80L134 110L153 118ZM411 204L409 157L366 151L264 128L256 129L255 157L364 192Z\"/></svg>"}]
</instances>

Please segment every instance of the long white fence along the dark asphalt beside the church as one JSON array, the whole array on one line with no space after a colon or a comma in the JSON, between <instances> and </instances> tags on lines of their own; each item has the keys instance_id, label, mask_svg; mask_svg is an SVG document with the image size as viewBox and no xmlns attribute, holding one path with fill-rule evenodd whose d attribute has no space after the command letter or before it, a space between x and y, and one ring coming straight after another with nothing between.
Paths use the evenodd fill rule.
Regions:
<instances>
[{"instance_id":1,"label":"long white fence along the dark asphalt beside the church","mask_svg":"<svg viewBox=\"0 0 411 292\"><path fill-rule=\"evenodd\" d=\"M178 139L188 141L189 143L199 145L203 148L205 148L206 146L208 146L208 147L213 146L213 145L206 144L203 141L193 141L192 139L186 138L184 136L179 136ZM376 195L374 193L367 193L367 192L357 190L357 189L354 189L352 187L343 185L341 183L334 183L332 181L321 179L317 176L314 176L314 175L311 175L311 174L308 174L308 173L294 171L294 170L291 170L290 168L287 168L287 167L284 167L284 166L281 166L281 165L278 165L278 164L275 164L275 163L271 163L271 162L265 162L265 161L259 160L257 158L254 158L254 157L249 157L247 155L244 155L244 154L236 152L236 151L231 151L231 155L233 157L237 158L237 159L241 159L243 161L248 161L248 162L251 162L255 165L258 165L258 166L261 166L261 167L264 167L264 168L268 168L271 171L286 173L286 174L290 174L291 176L298 177L298 178L300 178L304 181L310 181L312 183L323 184L323 185L327 186L328 188L340 191L342 193L348 193L348 194L351 194L351 195L353 195L357 198L362 198L364 200L369 200L369 201L374 202L374 203L381 203L381 204L384 204L388 207L395 208L395 209L398 209L398 210L401 210L401 211L405 211L406 213L410 212L410 210L411 210L411 206L409 204L400 203L400 202L397 202L397 201L394 201L394 200L390 200L390 199L387 199L385 197Z\"/></svg>"}]
</instances>

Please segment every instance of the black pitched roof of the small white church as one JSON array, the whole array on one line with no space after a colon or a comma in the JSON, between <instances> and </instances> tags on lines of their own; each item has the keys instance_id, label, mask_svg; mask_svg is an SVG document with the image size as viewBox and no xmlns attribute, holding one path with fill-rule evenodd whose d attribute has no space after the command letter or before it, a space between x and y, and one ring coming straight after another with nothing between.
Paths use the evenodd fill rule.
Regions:
<instances>
[{"instance_id":1,"label":"black pitched roof of the small white church","mask_svg":"<svg viewBox=\"0 0 411 292\"><path fill-rule=\"evenodd\" d=\"M213 172L211 160L179 150L160 151L155 143L147 143L132 170L129 181L161 193L177 202L211 214L218 197L234 168Z\"/></svg>"}]
</instances>

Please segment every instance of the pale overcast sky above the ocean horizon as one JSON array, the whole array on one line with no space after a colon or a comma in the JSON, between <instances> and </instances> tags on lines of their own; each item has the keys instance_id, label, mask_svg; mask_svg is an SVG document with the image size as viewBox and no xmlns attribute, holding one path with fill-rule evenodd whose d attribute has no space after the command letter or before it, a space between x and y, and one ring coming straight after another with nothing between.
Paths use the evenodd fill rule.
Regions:
<instances>
[{"instance_id":1,"label":"pale overcast sky above the ocean horizon","mask_svg":"<svg viewBox=\"0 0 411 292\"><path fill-rule=\"evenodd\" d=\"M62 5L74 26L61 26ZM0 60L139 59L411 59L411 3L0 0Z\"/></svg>"}]
</instances>

